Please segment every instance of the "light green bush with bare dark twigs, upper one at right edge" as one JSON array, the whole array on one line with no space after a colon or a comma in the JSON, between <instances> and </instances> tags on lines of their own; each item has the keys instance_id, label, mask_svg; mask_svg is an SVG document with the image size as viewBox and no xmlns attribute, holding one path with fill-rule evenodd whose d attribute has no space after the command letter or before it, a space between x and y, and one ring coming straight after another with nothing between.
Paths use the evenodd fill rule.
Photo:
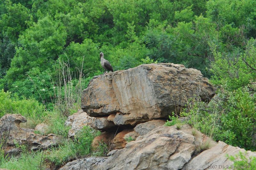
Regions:
<instances>
[{"instance_id":1,"label":"light green bush with bare dark twigs, upper one at right edge","mask_svg":"<svg viewBox=\"0 0 256 170\"><path fill-rule=\"evenodd\" d=\"M225 55L213 48L214 62L211 82L228 90L252 86L256 79L256 40L248 41L246 51L237 55Z\"/></svg>"}]
</instances>

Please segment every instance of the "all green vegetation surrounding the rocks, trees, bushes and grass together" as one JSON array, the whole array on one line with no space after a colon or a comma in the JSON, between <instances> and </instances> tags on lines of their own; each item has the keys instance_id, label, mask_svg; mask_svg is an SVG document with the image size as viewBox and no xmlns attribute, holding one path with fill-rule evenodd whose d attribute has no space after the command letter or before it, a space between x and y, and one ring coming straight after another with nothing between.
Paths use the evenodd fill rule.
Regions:
<instances>
[{"instance_id":1,"label":"all green vegetation surrounding the rocks, trees, bushes and grass together","mask_svg":"<svg viewBox=\"0 0 256 170\"><path fill-rule=\"evenodd\" d=\"M47 122L52 133L67 137L63 123L80 107L90 79L103 73L103 52L114 70L156 60L200 70L218 91L209 105L188 101L182 113L188 123L216 141L255 151L255 6L255 0L2 0L0 117L20 113L31 127ZM77 152L87 147L81 141L45 158L62 165L86 155ZM12 161L0 154L0 167L16 169L10 162L30 156L38 168L40 154L24 151L25 159Z\"/></svg>"}]
</instances>

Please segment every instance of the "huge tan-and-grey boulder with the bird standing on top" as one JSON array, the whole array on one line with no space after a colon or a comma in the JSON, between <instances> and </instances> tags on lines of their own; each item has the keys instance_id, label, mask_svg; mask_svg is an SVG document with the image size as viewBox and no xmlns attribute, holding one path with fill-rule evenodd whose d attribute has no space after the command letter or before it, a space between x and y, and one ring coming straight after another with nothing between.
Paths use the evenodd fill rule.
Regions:
<instances>
[{"instance_id":1,"label":"huge tan-and-grey boulder with the bird standing on top","mask_svg":"<svg viewBox=\"0 0 256 170\"><path fill-rule=\"evenodd\" d=\"M159 63L95 76L81 100L82 109L90 116L111 115L108 120L115 125L135 126L179 113L190 97L209 101L214 93L199 70Z\"/></svg>"}]
</instances>

